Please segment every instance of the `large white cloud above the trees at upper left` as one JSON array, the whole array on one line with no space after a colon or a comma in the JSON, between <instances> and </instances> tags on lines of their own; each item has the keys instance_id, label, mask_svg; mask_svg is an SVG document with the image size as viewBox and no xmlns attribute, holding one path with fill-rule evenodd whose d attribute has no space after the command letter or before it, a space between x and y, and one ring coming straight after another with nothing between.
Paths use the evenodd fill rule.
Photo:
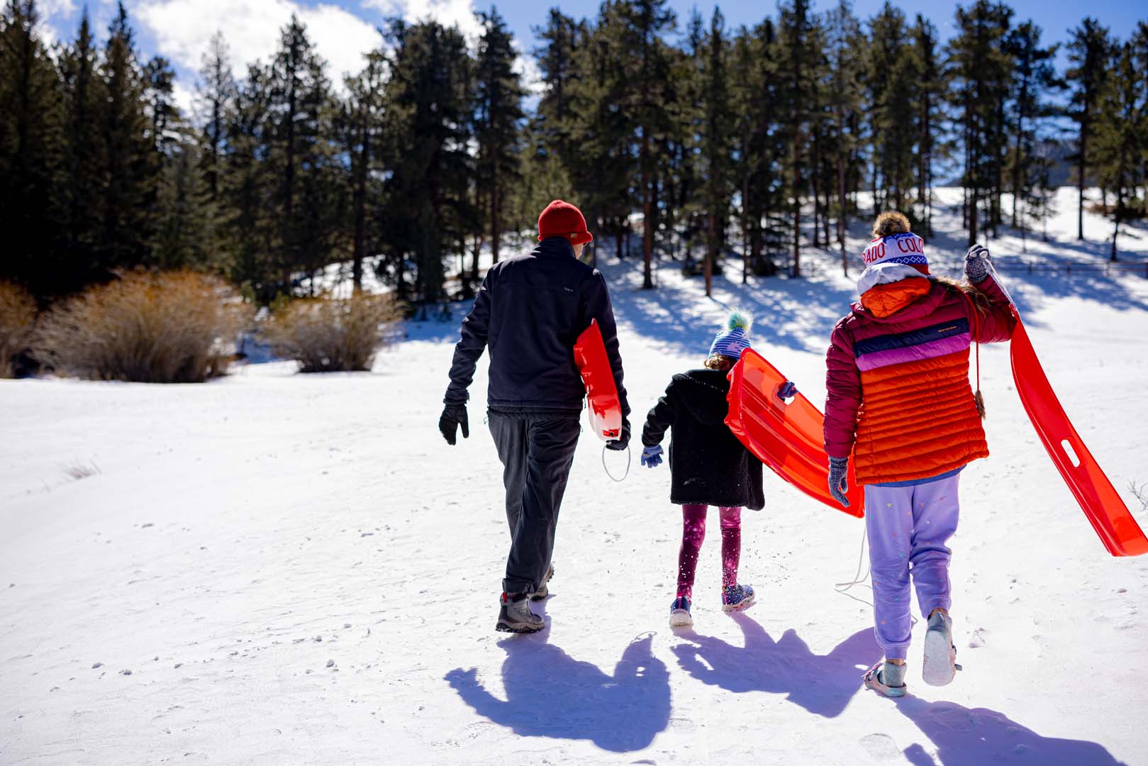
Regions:
<instances>
[{"instance_id":1,"label":"large white cloud above the trees at upper left","mask_svg":"<svg viewBox=\"0 0 1148 766\"><path fill-rule=\"evenodd\" d=\"M331 64L338 86L344 72L363 68L363 54L380 44L374 25L338 6L307 7L293 0L144 0L135 9L155 37L157 53L197 71L208 41L222 30L232 67L242 76L256 59L267 61L279 45L279 31L292 14L307 25L316 51Z\"/></svg>"}]
</instances>

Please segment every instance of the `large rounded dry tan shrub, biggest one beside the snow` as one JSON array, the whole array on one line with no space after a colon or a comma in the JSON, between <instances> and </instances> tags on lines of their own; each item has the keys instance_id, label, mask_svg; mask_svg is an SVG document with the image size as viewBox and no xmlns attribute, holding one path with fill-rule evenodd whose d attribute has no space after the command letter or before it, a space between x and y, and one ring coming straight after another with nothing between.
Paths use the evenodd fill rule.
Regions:
<instances>
[{"instance_id":1,"label":"large rounded dry tan shrub, biggest one beside the snow","mask_svg":"<svg viewBox=\"0 0 1148 766\"><path fill-rule=\"evenodd\" d=\"M57 372L94 380L202 382L226 374L249 316L215 277L133 271L48 311L34 354Z\"/></svg>"}]
</instances>

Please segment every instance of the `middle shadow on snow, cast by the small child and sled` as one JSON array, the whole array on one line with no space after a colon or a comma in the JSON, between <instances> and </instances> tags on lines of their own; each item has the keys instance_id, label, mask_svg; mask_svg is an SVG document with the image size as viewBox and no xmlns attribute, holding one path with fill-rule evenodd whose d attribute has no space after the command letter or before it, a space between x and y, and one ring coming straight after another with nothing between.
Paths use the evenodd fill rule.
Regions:
<instances>
[{"instance_id":1,"label":"middle shadow on snow, cast by the small child and sled","mask_svg":"<svg viewBox=\"0 0 1148 766\"><path fill-rule=\"evenodd\" d=\"M828 655L815 655L792 628L774 641L746 614L731 617L745 636L744 647L682 630L678 635L690 643L674 647L674 653L693 678L735 694L784 694L810 713L835 718L861 688L858 666L881 658L872 628L858 630Z\"/></svg>"}]
</instances>

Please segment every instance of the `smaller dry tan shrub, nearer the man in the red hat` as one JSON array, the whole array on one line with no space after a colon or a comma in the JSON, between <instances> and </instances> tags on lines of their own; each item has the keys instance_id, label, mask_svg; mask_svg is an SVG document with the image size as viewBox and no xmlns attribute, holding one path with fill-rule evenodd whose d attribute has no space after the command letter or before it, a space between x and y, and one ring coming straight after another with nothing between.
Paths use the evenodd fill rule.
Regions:
<instances>
[{"instance_id":1,"label":"smaller dry tan shrub, nearer the man in the red hat","mask_svg":"<svg viewBox=\"0 0 1148 766\"><path fill-rule=\"evenodd\" d=\"M387 325L401 318L402 305L389 295L300 299L274 307L262 333L300 372L367 371L388 341Z\"/></svg>"}]
</instances>

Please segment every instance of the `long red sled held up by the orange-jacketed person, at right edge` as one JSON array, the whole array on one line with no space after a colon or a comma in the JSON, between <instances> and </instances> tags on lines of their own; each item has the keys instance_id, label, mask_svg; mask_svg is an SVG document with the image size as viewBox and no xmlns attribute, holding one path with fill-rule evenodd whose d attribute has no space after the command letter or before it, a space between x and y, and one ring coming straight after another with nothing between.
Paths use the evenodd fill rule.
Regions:
<instances>
[{"instance_id":1,"label":"long red sled held up by the orange-jacketed person, at right edge","mask_svg":"<svg viewBox=\"0 0 1148 766\"><path fill-rule=\"evenodd\" d=\"M1085 447L1072 421L1064 413L1053 387L1048 384L1021 315L1013 309L1010 358L1016 393L1048 456L1072 490L1081 510L1112 556L1140 556L1148 552L1148 537L1128 512L1127 506Z\"/></svg>"}]
</instances>

